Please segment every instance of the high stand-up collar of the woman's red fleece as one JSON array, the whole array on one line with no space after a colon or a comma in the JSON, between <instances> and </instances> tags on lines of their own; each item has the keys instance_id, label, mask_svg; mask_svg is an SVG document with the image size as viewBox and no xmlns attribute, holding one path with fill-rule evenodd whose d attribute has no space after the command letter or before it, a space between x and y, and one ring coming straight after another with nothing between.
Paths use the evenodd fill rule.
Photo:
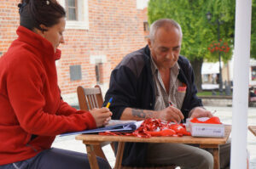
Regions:
<instances>
[{"instance_id":1,"label":"high stand-up collar of the woman's red fleece","mask_svg":"<svg viewBox=\"0 0 256 169\"><path fill-rule=\"evenodd\" d=\"M29 45L31 45L34 48L37 48L41 52L48 54L49 57L54 55L55 60L61 59L61 50L56 49L56 52L54 52L52 44L44 37L41 37L37 33L30 31L29 29L23 27L22 25L18 27L16 32L17 35L19 36L18 40L28 43Z\"/></svg>"}]
</instances>

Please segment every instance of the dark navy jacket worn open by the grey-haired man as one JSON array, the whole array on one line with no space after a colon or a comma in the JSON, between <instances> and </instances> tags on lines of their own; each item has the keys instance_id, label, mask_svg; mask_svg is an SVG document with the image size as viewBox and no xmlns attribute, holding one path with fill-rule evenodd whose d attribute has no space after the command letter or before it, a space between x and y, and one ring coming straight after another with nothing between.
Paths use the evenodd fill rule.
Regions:
<instances>
[{"instance_id":1,"label":"dark navy jacket worn open by the grey-haired man","mask_svg":"<svg viewBox=\"0 0 256 169\"><path fill-rule=\"evenodd\" d=\"M127 54L125 58L112 71L108 92L104 105L113 97L110 110L112 119L119 119L125 108L154 110L154 83L151 70L150 50L148 46ZM201 99L196 97L194 72L189 60L179 56L177 63L180 67L177 78L187 85L185 98L181 111L186 119L189 111L196 106L202 106ZM148 144L125 144L123 166L146 166L145 155Z\"/></svg>"}]
</instances>

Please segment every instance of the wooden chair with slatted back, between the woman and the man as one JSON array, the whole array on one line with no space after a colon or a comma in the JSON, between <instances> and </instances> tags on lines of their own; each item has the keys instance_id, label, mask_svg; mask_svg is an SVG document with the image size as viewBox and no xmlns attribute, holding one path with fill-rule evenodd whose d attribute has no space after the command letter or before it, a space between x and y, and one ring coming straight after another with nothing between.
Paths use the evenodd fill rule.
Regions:
<instances>
[{"instance_id":1,"label":"wooden chair with slatted back, between the woman and the man","mask_svg":"<svg viewBox=\"0 0 256 169\"><path fill-rule=\"evenodd\" d=\"M102 90L101 87L96 85L91 88L84 88L79 86L77 88L78 98L79 98L79 107L80 110L91 110L94 108L101 108L103 104L102 98ZM103 142L102 144L94 144L93 150L97 156L102 157L106 161L107 158L102 151L102 147L111 144L111 147L114 151L113 143L111 142ZM108 163L109 164L109 163ZM109 165L110 166L110 165ZM122 169L174 169L175 166L160 166L160 167L130 167L130 166L122 166Z\"/></svg>"}]
</instances>

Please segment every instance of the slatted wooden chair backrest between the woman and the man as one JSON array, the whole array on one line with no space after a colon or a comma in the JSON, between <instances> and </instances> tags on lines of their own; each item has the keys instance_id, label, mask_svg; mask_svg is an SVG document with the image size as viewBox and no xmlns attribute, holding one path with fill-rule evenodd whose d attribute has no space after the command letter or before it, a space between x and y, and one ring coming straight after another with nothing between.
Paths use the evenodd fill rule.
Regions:
<instances>
[{"instance_id":1,"label":"slatted wooden chair backrest between the woman and the man","mask_svg":"<svg viewBox=\"0 0 256 169\"><path fill-rule=\"evenodd\" d=\"M79 86L77 88L80 110L101 108L103 104L102 90L99 85L91 88Z\"/></svg>"}]
</instances>

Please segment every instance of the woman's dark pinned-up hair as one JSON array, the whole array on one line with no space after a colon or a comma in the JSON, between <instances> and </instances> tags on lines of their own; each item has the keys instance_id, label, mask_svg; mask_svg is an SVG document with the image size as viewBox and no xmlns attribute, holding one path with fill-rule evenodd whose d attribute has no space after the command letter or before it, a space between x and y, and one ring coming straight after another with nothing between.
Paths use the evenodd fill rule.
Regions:
<instances>
[{"instance_id":1,"label":"woman's dark pinned-up hair","mask_svg":"<svg viewBox=\"0 0 256 169\"><path fill-rule=\"evenodd\" d=\"M20 25L29 30L37 28L47 31L40 25L51 27L66 16L65 9L56 0L21 0L18 7L20 8Z\"/></svg>"}]
</instances>

